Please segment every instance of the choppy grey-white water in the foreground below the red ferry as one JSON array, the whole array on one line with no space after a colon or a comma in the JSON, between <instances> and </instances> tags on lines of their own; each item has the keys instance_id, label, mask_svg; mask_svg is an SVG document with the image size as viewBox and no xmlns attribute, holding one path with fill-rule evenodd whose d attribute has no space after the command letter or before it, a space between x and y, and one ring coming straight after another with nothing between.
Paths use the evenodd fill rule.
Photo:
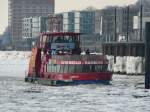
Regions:
<instances>
[{"instance_id":1,"label":"choppy grey-white water in the foreground below the red ferry","mask_svg":"<svg viewBox=\"0 0 150 112\"><path fill-rule=\"evenodd\" d=\"M23 78L0 77L0 112L150 112L143 76L115 75L111 85L40 86Z\"/></svg>"}]
</instances>

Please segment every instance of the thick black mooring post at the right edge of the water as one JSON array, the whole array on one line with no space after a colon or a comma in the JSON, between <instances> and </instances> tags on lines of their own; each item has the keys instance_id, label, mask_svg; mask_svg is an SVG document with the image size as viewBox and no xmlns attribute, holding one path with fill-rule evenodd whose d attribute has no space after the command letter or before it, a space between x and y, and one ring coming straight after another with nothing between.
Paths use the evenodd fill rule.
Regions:
<instances>
[{"instance_id":1,"label":"thick black mooring post at the right edge of the water","mask_svg":"<svg viewBox=\"0 0 150 112\"><path fill-rule=\"evenodd\" d=\"M145 89L150 89L150 22L146 23L145 35Z\"/></svg>"}]
</instances>

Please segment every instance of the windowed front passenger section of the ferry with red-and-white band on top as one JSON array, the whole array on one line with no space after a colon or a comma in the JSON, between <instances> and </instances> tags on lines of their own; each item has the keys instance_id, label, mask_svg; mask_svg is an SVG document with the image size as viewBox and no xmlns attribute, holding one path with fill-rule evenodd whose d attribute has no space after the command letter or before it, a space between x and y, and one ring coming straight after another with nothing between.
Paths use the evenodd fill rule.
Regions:
<instances>
[{"instance_id":1,"label":"windowed front passenger section of the ferry with red-and-white band on top","mask_svg":"<svg viewBox=\"0 0 150 112\"><path fill-rule=\"evenodd\" d=\"M106 72L108 62L102 55L55 55L46 67L52 73Z\"/></svg>"}]
</instances>

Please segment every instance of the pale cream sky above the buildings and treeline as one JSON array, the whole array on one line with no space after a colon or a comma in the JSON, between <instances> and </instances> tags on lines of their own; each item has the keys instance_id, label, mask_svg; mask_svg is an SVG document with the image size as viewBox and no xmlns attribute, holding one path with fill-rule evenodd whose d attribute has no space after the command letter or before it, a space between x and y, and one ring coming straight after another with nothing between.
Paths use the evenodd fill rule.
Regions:
<instances>
[{"instance_id":1,"label":"pale cream sky above the buildings and treeline","mask_svg":"<svg viewBox=\"0 0 150 112\"><path fill-rule=\"evenodd\" d=\"M8 0L0 0L0 34L8 25ZM137 0L55 0L55 12L67 12L69 10L82 10L88 6L102 9L110 5L129 5Z\"/></svg>"}]
</instances>

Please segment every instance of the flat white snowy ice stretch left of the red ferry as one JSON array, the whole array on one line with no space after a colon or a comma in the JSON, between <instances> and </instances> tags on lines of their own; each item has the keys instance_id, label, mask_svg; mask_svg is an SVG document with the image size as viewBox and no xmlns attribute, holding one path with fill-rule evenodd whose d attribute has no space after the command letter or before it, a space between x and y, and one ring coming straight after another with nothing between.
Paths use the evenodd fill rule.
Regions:
<instances>
[{"instance_id":1,"label":"flat white snowy ice stretch left of the red ferry","mask_svg":"<svg viewBox=\"0 0 150 112\"><path fill-rule=\"evenodd\" d=\"M31 52L0 51L0 76L24 77Z\"/></svg>"}]
</instances>

